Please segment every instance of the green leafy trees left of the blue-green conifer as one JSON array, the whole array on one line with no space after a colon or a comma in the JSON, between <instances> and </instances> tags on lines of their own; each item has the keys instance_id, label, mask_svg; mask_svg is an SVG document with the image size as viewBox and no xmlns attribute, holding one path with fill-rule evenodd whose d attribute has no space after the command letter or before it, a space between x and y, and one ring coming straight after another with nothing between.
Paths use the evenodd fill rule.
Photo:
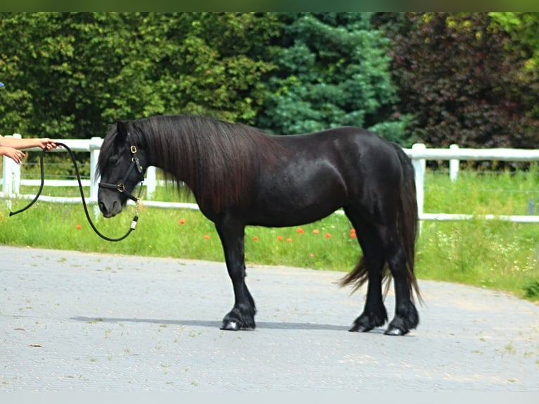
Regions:
<instances>
[{"instance_id":1,"label":"green leafy trees left of the blue-green conifer","mask_svg":"<svg viewBox=\"0 0 539 404\"><path fill-rule=\"evenodd\" d=\"M274 34L253 13L4 13L3 131L103 136L118 119L197 113L253 122L260 77L251 58Z\"/></svg>"}]
</instances>

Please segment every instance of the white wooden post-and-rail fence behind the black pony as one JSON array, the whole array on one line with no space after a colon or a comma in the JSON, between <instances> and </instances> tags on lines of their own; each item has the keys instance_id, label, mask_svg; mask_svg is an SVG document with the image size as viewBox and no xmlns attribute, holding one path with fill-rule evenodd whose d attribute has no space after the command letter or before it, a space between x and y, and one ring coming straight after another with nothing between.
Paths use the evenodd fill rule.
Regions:
<instances>
[{"instance_id":1,"label":"white wooden post-and-rail fence behind the black pony","mask_svg":"<svg viewBox=\"0 0 539 404\"><path fill-rule=\"evenodd\" d=\"M13 137L20 137L20 134L14 134ZM90 187L90 195L87 199L88 204L97 203L98 179L96 178L96 165L99 156L99 149L103 143L103 139L94 137L91 139L65 139L63 143L67 144L72 151L86 151L90 153L90 179L83 180L85 187ZM39 149L34 149L39 150ZM426 160L449 160L450 162L450 177L456 179L459 170L459 162L461 160L495 160L495 161L539 161L539 149L459 149L458 146L450 146L450 149L427 149L424 144L414 144L412 149L404 149L405 153L412 159L415 170L415 182L417 188L417 206L419 209L420 220L469 220L473 215L459 215L448 213L425 213L424 206L424 181ZM65 152L65 149L55 149L55 152ZM23 179L20 177L20 166L15 164L11 158L3 159L3 178L2 191L0 198L7 199L8 202L12 198L32 199L34 195L20 194L20 185L37 186L40 180ZM146 171L146 179L144 186L146 187L145 206L153 206L157 208L186 208L198 210L198 206L194 203L174 203L152 201L153 192L157 185L156 170L153 167ZM49 187L77 187L76 180L54 180L46 179L45 186ZM539 192L539 190L538 190ZM80 203L80 197L64 198L56 196L40 196L42 201L50 201L53 203ZM131 201L129 201L131 203ZM487 220L509 220L511 222L523 223L539 223L539 215L485 215Z\"/></svg>"}]
</instances>

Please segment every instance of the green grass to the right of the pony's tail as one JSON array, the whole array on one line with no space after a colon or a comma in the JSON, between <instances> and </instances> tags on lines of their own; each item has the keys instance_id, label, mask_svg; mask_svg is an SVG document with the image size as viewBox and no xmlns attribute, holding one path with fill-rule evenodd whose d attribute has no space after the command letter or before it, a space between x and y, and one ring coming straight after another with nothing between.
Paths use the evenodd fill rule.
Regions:
<instances>
[{"instance_id":1,"label":"green grass to the right of the pony's tail","mask_svg":"<svg viewBox=\"0 0 539 404\"><path fill-rule=\"evenodd\" d=\"M539 204L538 167L516 173L462 172L456 182L429 173L425 183L425 212L477 218L423 222L418 276L510 291L539 301L539 225L479 218L526 215L531 198ZM539 214L539 205L535 210Z\"/></svg>"}]
</instances>

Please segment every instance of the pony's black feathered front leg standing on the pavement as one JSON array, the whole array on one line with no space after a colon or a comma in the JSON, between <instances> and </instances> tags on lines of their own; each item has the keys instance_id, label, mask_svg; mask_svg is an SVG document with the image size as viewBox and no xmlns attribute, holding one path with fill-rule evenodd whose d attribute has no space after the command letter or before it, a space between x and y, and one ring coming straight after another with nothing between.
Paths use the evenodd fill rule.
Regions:
<instances>
[{"instance_id":1,"label":"pony's black feathered front leg standing on the pavement","mask_svg":"<svg viewBox=\"0 0 539 404\"><path fill-rule=\"evenodd\" d=\"M234 307L224 316L221 329L255 329L255 301L245 284L244 227L231 222L222 222L215 227L221 239L224 259L234 288Z\"/></svg>"}]
</instances>

